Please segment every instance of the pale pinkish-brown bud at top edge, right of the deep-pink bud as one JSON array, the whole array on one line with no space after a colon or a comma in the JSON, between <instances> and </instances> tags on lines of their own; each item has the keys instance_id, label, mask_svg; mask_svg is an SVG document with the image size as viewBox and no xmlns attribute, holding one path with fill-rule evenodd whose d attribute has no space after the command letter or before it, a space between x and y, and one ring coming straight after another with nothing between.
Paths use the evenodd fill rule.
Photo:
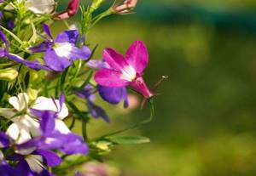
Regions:
<instances>
[{"instance_id":1,"label":"pale pinkish-brown bud at top edge, right of the deep-pink bud","mask_svg":"<svg viewBox=\"0 0 256 176\"><path fill-rule=\"evenodd\" d=\"M122 4L116 4L113 6L113 12L115 14L128 14L137 6L137 0L125 0Z\"/></svg>"}]
</instances>

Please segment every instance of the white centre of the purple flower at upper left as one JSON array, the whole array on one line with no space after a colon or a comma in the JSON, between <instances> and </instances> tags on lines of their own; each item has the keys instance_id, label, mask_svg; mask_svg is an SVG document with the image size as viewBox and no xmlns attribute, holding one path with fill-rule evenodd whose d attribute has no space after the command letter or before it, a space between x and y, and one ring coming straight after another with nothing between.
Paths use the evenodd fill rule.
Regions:
<instances>
[{"instance_id":1,"label":"white centre of the purple flower at upper left","mask_svg":"<svg viewBox=\"0 0 256 176\"><path fill-rule=\"evenodd\" d=\"M55 43L54 46L55 53L63 58L68 58L71 55L72 48L71 43Z\"/></svg>"}]
</instances>

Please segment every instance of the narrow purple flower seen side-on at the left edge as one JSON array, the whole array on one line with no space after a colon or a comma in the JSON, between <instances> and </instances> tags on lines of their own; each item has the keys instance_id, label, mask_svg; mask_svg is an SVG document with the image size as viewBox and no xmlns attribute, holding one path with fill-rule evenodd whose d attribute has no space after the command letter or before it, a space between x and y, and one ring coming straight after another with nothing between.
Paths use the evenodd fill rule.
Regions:
<instances>
[{"instance_id":1,"label":"narrow purple flower seen side-on at the left edge","mask_svg":"<svg viewBox=\"0 0 256 176\"><path fill-rule=\"evenodd\" d=\"M24 60L17 54L9 53L9 41L7 40L7 37L5 36L3 31L0 31L0 38L3 40L3 43L5 43L5 48L0 48L0 58L7 57L9 58L9 60L13 60L17 63L26 65L28 68L34 69L36 71L42 69L47 71L50 70L47 66L41 65L38 60Z\"/></svg>"}]
</instances>

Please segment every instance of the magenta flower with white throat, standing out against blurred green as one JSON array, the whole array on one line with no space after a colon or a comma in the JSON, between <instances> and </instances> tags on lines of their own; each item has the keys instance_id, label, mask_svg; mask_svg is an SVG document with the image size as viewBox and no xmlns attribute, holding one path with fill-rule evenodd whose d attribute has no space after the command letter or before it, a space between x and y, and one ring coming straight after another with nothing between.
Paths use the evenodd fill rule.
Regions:
<instances>
[{"instance_id":1,"label":"magenta flower with white throat, standing out against blurred green","mask_svg":"<svg viewBox=\"0 0 256 176\"><path fill-rule=\"evenodd\" d=\"M106 87L131 86L146 99L154 95L143 80L143 71L148 65L148 50L142 41L132 43L125 57L112 48L106 48L103 59L109 68L96 72L95 80L98 84Z\"/></svg>"}]
</instances>

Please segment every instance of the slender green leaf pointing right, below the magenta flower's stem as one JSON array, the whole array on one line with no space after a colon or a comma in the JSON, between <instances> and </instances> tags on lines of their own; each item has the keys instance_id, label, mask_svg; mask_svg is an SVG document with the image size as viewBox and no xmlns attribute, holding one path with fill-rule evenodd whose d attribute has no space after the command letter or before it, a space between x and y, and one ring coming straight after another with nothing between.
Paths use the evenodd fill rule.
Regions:
<instances>
[{"instance_id":1,"label":"slender green leaf pointing right, below the magenta flower's stem","mask_svg":"<svg viewBox=\"0 0 256 176\"><path fill-rule=\"evenodd\" d=\"M150 142L150 139L143 136L112 136L107 139L117 145L137 145Z\"/></svg>"}]
</instances>

